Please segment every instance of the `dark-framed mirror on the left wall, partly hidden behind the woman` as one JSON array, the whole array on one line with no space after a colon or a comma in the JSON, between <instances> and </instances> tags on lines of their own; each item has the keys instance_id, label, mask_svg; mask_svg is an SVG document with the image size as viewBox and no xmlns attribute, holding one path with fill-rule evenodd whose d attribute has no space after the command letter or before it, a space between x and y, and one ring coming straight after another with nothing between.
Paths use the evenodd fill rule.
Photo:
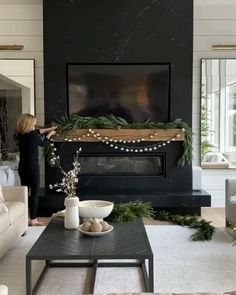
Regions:
<instances>
[{"instance_id":1,"label":"dark-framed mirror on the left wall, partly hidden behind the woman","mask_svg":"<svg viewBox=\"0 0 236 295\"><path fill-rule=\"evenodd\" d=\"M0 59L0 164L15 161L16 120L35 114L35 60Z\"/></svg>"}]
</instances>

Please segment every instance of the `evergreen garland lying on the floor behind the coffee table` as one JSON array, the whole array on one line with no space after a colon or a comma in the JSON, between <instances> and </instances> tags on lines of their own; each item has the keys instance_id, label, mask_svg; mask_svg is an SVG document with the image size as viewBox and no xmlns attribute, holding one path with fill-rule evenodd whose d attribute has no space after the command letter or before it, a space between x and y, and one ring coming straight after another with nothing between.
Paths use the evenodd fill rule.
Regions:
<instances>
[{"instance_id":1,"label":"evergreen garland lying on the floor behind the coffee table","mask_svg":"<svg viewBox=\"0 0 236 295\"><path fill-rule=\"evenodd\" d=\"M192 241L209 241L212 239L215 228L198 216L181 216L170 214L165 211L156 212L149 202L129 202L123 204L115 204L110 216L106 218L109 222L125 222L131 221L138 217L148 217L161 221L169 221L181 226L188 226L195 229L190 237Z\"/></svg>"}]
</instances>

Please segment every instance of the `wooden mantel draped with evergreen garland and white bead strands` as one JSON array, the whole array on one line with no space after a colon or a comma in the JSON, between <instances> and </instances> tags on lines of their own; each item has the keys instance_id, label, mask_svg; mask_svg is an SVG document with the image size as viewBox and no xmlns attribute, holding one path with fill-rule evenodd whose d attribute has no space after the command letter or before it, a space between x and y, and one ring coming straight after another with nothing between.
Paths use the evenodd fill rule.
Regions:
<instances>
[{"instance_id":1,"label":"wooden mantel draped with evergreen garland and white bead strands","mask_svg":"<svg viewBox=\"0 0 236 295\"><path fill-rule=\"evenodd\" d=\"M55 123L58 126L58 134L54 137L56 142L101 142L121 152L157 152L172 142L183 141L183 154L177 164L192 163L192 129L182 119L128 123L113 114L100 117L64 115Z\"/></svg>"}]
</instances>

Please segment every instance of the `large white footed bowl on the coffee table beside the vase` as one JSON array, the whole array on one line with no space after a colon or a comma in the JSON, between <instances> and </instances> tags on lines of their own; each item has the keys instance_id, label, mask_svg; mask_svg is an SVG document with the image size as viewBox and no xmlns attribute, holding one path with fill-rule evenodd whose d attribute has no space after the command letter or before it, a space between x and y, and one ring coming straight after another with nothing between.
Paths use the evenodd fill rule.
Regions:
<instances>
[{"instance_id":1,"label":"large white footed bowl on the coffee table beside the vase","mask_svg":"<svg viewBox=\"0 0 236 295\"><path fill-rule=\"evenodd\" d=\"M111 214L113 203L103 200L89 200L79 202L79 216L82 218L95 217L103 219Z\"/></svg>"}]
</instances>

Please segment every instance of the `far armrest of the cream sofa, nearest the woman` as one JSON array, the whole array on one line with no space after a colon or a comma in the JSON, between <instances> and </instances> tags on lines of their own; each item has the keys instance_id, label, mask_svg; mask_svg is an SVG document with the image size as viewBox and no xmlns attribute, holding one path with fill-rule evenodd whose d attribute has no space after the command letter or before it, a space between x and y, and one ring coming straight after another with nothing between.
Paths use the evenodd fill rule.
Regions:
<instances>
[{"instance_id":1,"label":"far armrest of the cream sofa, nearest the woman","mask_svg":"<svg viewBox=\"0 0 236 295\"><path fill-rule=\"evenodd\" d=\"M28 204L27 186L3 186L3 197L6 202L23 202Z\"/></svg>"}]
</instances>

